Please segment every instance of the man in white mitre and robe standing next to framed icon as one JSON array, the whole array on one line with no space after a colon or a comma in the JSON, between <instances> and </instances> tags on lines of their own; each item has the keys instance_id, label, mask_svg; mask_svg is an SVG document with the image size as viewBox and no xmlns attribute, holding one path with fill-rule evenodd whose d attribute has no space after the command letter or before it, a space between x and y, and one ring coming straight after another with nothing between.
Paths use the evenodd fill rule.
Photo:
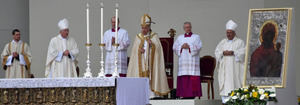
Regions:
<instances>
[{"instance_id":1,"label":"man in white mitre and robe standing next to framed icon","mask_svg":"<svg viewBox=\"0 0 300 105\"><path fill-rule=\"evenodd\" d=\"M242 87L244 76L244 41L236 37L237 24L229 20L226 24L227 38L223 39L215 50L217 68L219 71L219 89L222 102L228 99L228 94Z\"/></svg>"}]
</instances>

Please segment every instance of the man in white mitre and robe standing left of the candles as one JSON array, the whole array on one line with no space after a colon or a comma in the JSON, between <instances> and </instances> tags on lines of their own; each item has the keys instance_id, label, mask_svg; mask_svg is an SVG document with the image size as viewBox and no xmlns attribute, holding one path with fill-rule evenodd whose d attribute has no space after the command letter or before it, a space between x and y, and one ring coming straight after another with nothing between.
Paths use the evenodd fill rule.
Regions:
<instances>
[{"instance_id":1,"label":"man in white mitre and robe standing left of the candles","mask_svg":"<svg viewBox=\"0 0 300 105\"><path fill-rule=\"evenodd\" d=\"M77 77L77 43L69 36L69 22L58 22L59 35L50 40L46 61L45 76L48 78Z\"/></svg>"}]
</instances>

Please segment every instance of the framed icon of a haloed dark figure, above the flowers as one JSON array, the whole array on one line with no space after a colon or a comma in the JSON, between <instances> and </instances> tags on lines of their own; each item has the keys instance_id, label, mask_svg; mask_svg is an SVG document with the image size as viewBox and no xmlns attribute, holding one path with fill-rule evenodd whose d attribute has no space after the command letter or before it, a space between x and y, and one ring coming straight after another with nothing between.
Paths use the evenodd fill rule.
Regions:
<instances>
[{"instance_id":1,"label":"framed icon of a haloed dark figure, above the flowers","mask_svg":"<svg viewBox=\"0 0 300 105\"><path fill-rule=\"evenodd\" d=\"M292 8L250 9L244 87L285 86Z\"/></svg>"}]
</instances>

